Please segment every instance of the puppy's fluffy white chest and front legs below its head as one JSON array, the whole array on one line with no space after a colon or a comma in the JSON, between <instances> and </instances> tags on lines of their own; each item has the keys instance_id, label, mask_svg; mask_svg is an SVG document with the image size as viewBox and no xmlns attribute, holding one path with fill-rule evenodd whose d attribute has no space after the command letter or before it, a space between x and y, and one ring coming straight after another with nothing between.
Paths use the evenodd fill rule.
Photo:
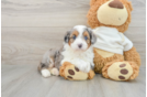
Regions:
<instances>
[{"instance_id":1,"label":"puppy's fluffy white chest and front legs below its head","mask_svg":"<svg viewBox=\"0 0 147 97\"><path fill-rule=\"evenodd\" d=\"M84 52L74 51L68 44L65 44L64 48L65 51L61 53L64 56L61 64L64 62L70 62L80 71L86 73L88 73L91 69L91 67L94 66L93 64L94 54L92 46Z\"/></svg>"}]
</instances>

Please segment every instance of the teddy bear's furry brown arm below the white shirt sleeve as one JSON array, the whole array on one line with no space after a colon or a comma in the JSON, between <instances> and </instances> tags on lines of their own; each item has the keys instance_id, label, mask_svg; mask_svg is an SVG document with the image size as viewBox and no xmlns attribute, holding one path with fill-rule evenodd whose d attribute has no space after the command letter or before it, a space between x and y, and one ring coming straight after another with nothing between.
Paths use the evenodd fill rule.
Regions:
<instances>
[{"instance_id":1,"label":"teddy bear's furry brown arm below the white shirt sleeve","mask_svg":"<svg viewBox=\"0 0 147 97\"><path fill-rule=\"evenodd\" d=\"M135 62L140 66L140 56L134 46L129 51L124 52L124 58L125 61Z\"/></svg>"}]
</instances>

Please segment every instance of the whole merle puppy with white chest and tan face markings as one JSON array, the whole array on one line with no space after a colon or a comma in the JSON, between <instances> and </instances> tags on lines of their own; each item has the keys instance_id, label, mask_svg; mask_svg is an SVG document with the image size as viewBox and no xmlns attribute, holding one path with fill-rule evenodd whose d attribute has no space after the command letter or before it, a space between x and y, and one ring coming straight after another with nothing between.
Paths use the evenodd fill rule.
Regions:
<instances>
[{"instance_id":1,"label":"whole merle puppy with white chest and tan face markings","mask_svg":"<svg viewBox=\"0 0 147 97\"><path fill-rule=\"evenodd\" d=\"M59 67L64 62L70 62L80 71L89 73L93 64L93 44L97 36L92 30L84 25L77 25L65 35L64 47L60 50L49 50L38 66L38 71L44 77L59 75Z\"/></svg>"}]
</instances>

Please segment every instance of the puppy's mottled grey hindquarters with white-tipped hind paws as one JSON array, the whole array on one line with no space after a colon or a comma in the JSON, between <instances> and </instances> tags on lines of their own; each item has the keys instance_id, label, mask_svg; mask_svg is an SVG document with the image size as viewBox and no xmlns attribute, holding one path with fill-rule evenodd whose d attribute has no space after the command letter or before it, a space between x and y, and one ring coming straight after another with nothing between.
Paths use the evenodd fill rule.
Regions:
<instances>
[{"instance_id":1,"label":"puppy's mottled grey hindquarters with white-tipped hind paws","mask_svg":"<svg viewBox=\"0 0 147 97\"><path fill-rule=\"evenodd\" d=\"M59 75L60 61L63 60L63 55L60 54L61 51L63 47L60 50L50 48L44 54L43 60L38 65L38 72L43 77Z\"/></svg>"}]
</instances>

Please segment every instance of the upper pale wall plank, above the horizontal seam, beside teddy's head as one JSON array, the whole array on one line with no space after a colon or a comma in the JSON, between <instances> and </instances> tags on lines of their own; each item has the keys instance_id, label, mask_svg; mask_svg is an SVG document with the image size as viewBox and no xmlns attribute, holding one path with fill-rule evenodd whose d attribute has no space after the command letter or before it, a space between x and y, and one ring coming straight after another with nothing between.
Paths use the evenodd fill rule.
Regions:
<instances>
[{"instance_id":1,"label":"upper pale wall plank, above the horizontal seam, beside teddy's head","mask_svg":"<svg viewBox=\"0 0 147 97\"><path fill-rule=\"evenodd\" d=\"M145 0L131 0L134 11L129 26L146 26ZM87 25L90 0L2 0L2 26Z\"/></svg>"}]
</instances>

